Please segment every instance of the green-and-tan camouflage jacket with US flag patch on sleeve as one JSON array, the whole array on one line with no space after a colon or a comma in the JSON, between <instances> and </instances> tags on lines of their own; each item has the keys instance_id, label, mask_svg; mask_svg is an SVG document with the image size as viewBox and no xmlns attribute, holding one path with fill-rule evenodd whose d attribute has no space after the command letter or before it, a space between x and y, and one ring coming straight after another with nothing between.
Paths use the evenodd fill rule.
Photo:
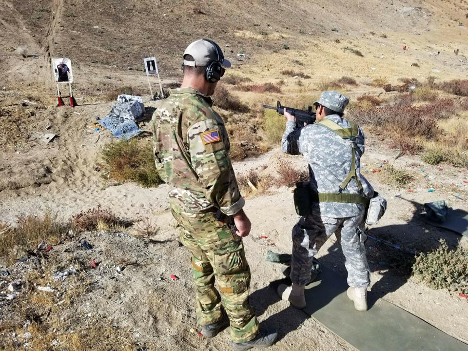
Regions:
<instances>
[{"instance_id":1,"label":"green-and-tan camouflage jacket with US flag patch on sleeve","mask_svg":"<svg viewBox=\"0 0 468 351\"><path fill-rule=\"evenodd\" d=\"M229 138L212 100L195 89L171 89L151 120L156 169L175 186L169 201L188 213L220 209L234 215L244 206L229 158Z\"/></svg>"}]
</instances>

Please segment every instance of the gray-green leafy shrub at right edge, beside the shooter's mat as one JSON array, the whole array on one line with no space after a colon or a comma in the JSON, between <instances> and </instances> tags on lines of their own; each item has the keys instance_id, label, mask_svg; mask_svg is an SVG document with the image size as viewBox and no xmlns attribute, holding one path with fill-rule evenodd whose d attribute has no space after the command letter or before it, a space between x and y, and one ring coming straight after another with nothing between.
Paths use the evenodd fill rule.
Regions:
<instances>
[{"instance_id":1,"label":"gray-green leafy shrub at right edge, beside the shooter's mat","mask_svg":"<svg viewBox=\"0 0 468 351\"><path fill-rule=\"evenodd\" d=\"M448 250L445 240L432 252L416 256L413 275L432 289L468 293L468 251Z\"/></svg>"}]
</instances>

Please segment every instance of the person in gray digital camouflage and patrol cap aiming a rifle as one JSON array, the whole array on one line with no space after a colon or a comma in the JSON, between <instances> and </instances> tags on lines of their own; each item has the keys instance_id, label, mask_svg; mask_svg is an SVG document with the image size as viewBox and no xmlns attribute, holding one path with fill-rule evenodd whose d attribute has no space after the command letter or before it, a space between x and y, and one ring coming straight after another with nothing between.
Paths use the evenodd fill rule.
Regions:
<instances>
[{"instance_id":1,"label":"person in gray digital camouflage and patrol cap aiming a rifle","mask_svg":"<svg viewBox=\"0 0 468 351\"><path fill-rule=\"evenodd\" d=\"M304 286L311 279L312 257L336 233L338 240L341 237L348 271L348 297L356 310L367 310L370 280L364 247L366 234L360 229L365 203L372 197L373 189L360 174L364 133L357 124L343 118L348 102L347 97L335 91L322 93L314 102L316 122L298 129L294 129L294 117L284 111L287 122L281 148L285 153L306 157L312 194L310 215L301 217L292 229L292 286L278 287L283 300L299 309L306 306ZM355 137L341 137L334 131L337 129L347 133L354 130Z\"/></svg>"}]
</instances>

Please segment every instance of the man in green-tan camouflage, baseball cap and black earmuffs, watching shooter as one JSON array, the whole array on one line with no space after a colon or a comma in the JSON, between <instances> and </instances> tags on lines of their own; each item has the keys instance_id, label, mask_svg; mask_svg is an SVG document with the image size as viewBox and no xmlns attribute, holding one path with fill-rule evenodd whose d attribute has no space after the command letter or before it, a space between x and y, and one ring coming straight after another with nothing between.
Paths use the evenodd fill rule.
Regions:
<instances>
[{"instance_id":1,"label":"man in green-tan camouflage, baseball cap and black earmuffs, watching shooter","mask_svg":"<svg viewBox=\"0 0 468 351\"><path fill-rule=\"evenodd\" d=\"M249 304L250 268L242 238L251 223L242 209L224 122L209 98L230 66L214 41L191 43L183 56L182 85L160 102L151 123L156 168L174 186L171 211L192 254L197 323L206 337L230 325L231 346L248 350L272 345L277 334L259 331Z\"/></svg>"}]
</instances>

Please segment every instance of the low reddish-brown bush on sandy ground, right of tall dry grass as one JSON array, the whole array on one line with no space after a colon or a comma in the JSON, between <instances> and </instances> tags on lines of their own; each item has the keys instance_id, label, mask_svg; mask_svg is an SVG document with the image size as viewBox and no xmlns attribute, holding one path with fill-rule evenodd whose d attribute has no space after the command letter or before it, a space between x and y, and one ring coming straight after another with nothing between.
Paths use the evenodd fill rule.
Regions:
<instances>
[{"instance_id":1,"label":"low reddish-brown bush on sandy ground, right of tall dry grass","mask_svg":"<svg viewBox=\"0 0 468 351\"><path fill-rule=\"evenodd\" d=\"M77 231L121 230L125 222L109 210L89 209L72 216L71 226Z\"/></svg>"}]
</instances>

